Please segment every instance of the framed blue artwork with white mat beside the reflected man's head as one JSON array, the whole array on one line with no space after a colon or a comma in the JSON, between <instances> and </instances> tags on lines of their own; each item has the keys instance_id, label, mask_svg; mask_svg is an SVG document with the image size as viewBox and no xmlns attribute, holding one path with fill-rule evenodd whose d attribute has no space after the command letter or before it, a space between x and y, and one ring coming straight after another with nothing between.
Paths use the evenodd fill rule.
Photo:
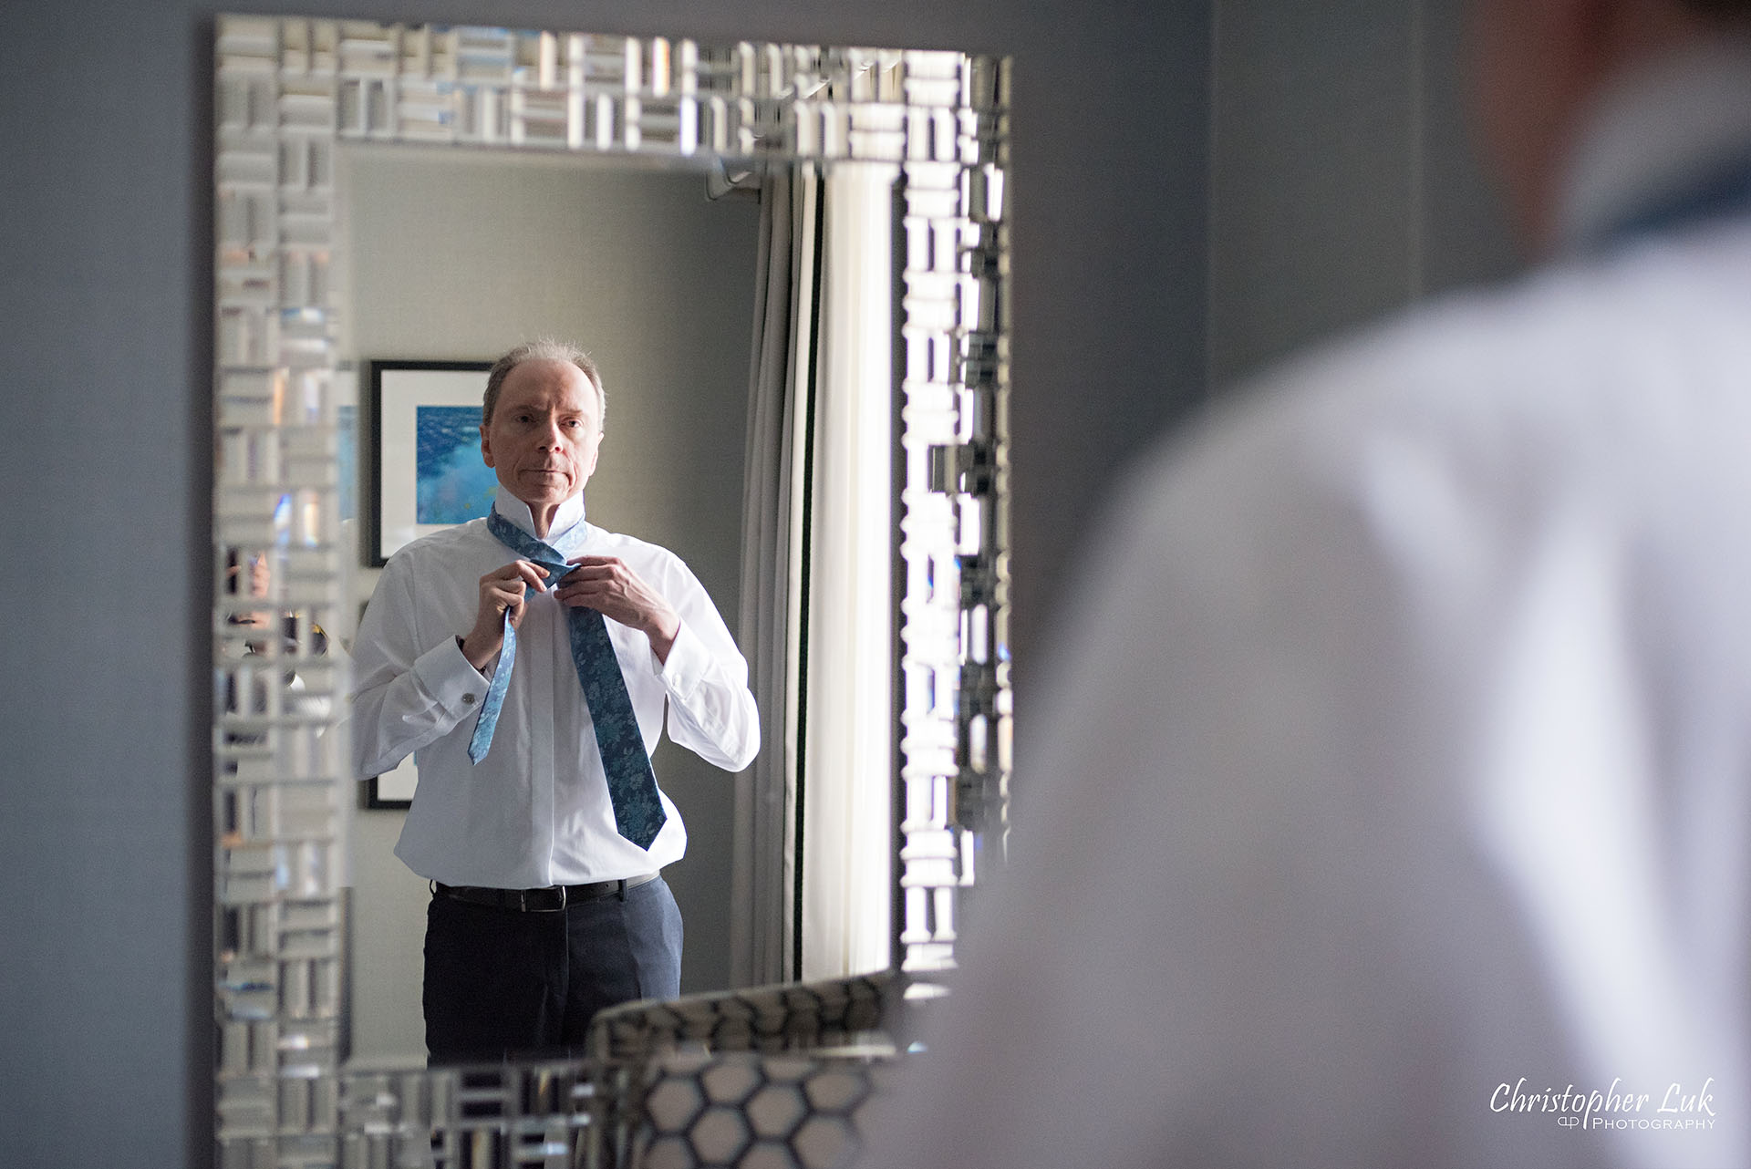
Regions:
<instances>
[{"instance_id":1,"label":"framed blue artwork with white mat beside the reflected man's head","mask_svg":"<svg viewBox=\"0 0 1751 1169\"><path fill-rule=\"evenodd\" d=\"M485 360L366 364L371 434L366 564L389 564L403 544L487 514L499 486L480 460Z\"/></svg>"}]
</instances>

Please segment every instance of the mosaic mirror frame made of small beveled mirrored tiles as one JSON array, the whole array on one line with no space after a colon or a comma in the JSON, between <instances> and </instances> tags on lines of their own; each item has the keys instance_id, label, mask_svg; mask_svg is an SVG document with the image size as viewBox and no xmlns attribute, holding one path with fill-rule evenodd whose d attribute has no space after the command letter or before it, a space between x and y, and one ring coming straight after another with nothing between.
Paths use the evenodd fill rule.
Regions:
<instances>
[{"instance_id":1,"label":"mosaic mirror frame made of small beveled mirrored tiles","mask_svg":"<svg viewBox=\"0 0 1751 1169\"><path fill-rule=\"evenodd\" d=\"M464 1113L517 1116L539 1139L501 1143L527 1152L504 1164L548 1164L578 1124L541 1087L569 1074L553 1064L473 1087L454 1071L343 1066L354 782L334 726L347 677L319 632L347 604L355 555L338 520L340 145L898 163L895 934L905 994L930 998L954 962L956 901L1007 838L1007 60L946 51L217 18L221 1166L375 1164L385 1130ZM249 588L257 562L264 595Z\"/></svg>"}]
</instances>

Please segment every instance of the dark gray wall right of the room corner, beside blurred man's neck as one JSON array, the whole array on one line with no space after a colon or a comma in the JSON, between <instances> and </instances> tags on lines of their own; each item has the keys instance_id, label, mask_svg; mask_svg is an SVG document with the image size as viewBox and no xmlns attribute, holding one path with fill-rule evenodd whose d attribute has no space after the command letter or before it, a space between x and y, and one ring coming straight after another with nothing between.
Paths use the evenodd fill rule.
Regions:
<instances>
[{"instance_id":1,"label":"dark gray wall right of the room corner, beside blurred man's neck","mask_svg":"<svg viewBox=\"0 0 1751 1169\"><path fill-rule=\"evenodd\" d=\"M1385 310L1506 275L1467 149L1460 0L1217 0L1213 387Z\"/></svg>"}]
</instances>

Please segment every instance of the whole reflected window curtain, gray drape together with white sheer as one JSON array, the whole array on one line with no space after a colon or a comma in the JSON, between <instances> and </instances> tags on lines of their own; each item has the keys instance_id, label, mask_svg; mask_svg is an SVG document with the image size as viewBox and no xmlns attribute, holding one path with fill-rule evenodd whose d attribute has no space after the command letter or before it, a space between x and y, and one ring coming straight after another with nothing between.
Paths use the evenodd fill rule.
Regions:
<instances>
[{"instance_id":1,"label":"whole reflected window curtain, gray drape together with white sheer","mask_svg":"<svg viewBox=\"0 0 1751 1169\"><path fill-rule=\"evenodd\" d=\"M765 742L735 788L737 985L890 962L897 177L797 166L760 192L739 634Z\"/></svg>"}]
</instances>

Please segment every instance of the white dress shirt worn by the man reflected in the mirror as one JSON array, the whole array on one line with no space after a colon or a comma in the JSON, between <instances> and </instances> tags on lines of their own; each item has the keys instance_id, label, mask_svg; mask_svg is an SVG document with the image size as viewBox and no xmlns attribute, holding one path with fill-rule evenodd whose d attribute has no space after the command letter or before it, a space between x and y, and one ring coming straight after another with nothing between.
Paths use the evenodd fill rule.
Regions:
<instances>
[{"instance_id":1,"label":"white dress shirt worn by the man reflected in the mirror","mask_svg":"<svg viewBox=\"0 0 1751 1169\"><path fill-rule=\"evenodd\" d=\"M534 534L527 504L504 488L494 508ZM548 536L559 539L576 523L587 523L581 494L560 506ZM725 770L748 766L760 719L748 663L711 597L674 553L587 528L576 555L618 556L681 616L667 662L644 634L608 621L644 749L657 747L667 710L669 738ZM462 656L457 637L475 625L480 578L511 560L485 520L422 537L390 556L359 623L355 772L380 775L410 751L420 770L396 856L420 877L497 889L618 880L678 861L686 828L667 794L669 819L648 850L615 828L564 607L550 592L527 600L492 749L469 761L487 677Z\"/></svg>"}]
</instances>

